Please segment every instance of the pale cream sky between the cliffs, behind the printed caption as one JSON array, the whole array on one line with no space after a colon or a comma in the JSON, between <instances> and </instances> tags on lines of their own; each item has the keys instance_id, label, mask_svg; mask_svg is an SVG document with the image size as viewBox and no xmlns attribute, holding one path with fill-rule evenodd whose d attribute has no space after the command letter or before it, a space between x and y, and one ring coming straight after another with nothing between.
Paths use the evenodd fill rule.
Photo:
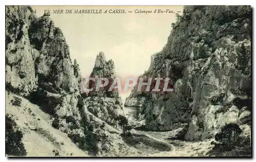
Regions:
<instances>
[{"instance_id":1,"label":"pale cream sky between the cliffs, behind the printed caption","mask_svg":"<svg viewBox=\"0 0 256 162\"><path fill-rule=\"evenodd\" d=\"M138 77L150 66L151 56L161 51L176 21L175 13L135 13L135 10L153 12L183 11L183 6L32 6L36 15L51 10L51 18L62 31L70 48L72 61L77 60L83 77L89 77L96 56L104 52L112 59L118 77ZM63 9L63 14L53 13ZM102 9L125 10L124 14L65 14L66 10ZM132 11L129 13L128 11ZM181 13L180 13L181 14Z\"/></svg>"}]
</instances>

